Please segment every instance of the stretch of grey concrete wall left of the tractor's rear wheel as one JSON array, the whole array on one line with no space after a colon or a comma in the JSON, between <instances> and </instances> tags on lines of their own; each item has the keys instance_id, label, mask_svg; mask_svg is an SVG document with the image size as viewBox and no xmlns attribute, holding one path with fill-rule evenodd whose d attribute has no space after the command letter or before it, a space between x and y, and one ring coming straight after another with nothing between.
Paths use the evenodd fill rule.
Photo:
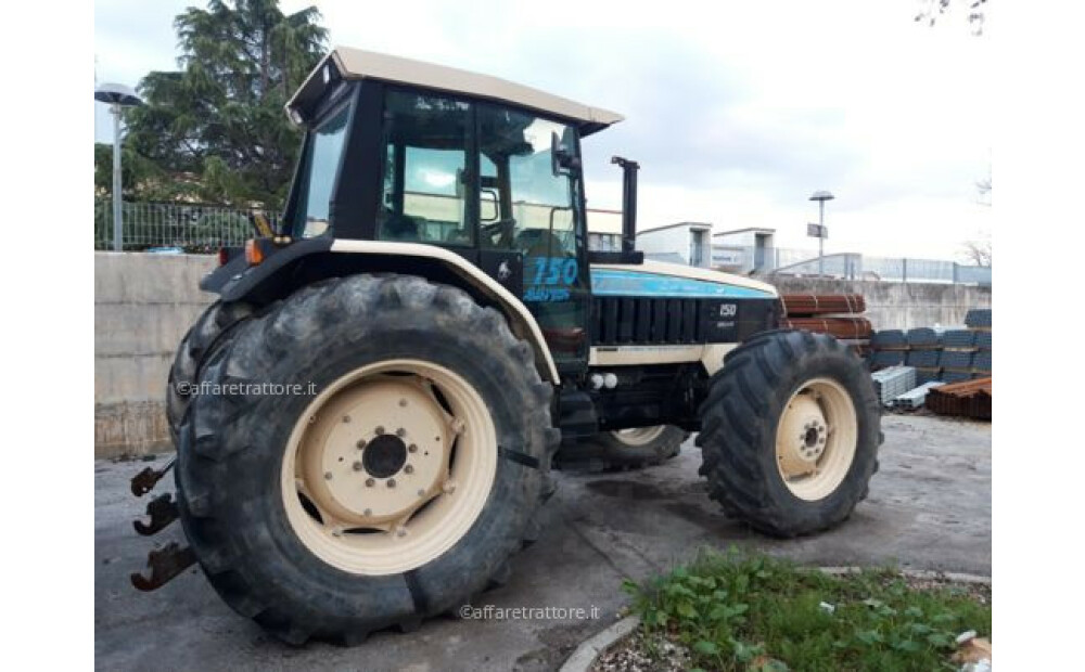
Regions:
<instances>
[{"instance_id":1,"label":"stretch of grey concrete wall left of the tractor's rear wheel","mask_svg":"<svg viewBox=\"0 0 1085 672\"><path fill-rule=\"evenodd\" d=\"M212 256L94 253L94 456L168 448L165 393L177 344L214 296Z\"/></svg>"}]
</instances>

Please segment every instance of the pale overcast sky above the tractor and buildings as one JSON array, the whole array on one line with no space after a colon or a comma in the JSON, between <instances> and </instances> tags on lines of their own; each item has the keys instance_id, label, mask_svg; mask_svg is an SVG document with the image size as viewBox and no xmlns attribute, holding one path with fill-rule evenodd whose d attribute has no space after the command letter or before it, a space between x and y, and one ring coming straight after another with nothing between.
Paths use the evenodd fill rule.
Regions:
<instances>
[{"instance_id":1,"label":"pale overcast sky above the tractor and buildings","mask_svg":"<svg viewBox=\"0 0 1085 672\"><path fill-rule=\"evenodd\" d=\"M173 18L191 4L95 0L98 80L135 86L175 69ZM779 246L816 247L807 198L827 189L837 196L827 251L956 258L963 241L990 233L975 182L991 170L992 21L972 37L967 3L933 28L912 21L917 0L316 4L332 44L623 114L584 143L588 206L621 207L610 157L634 158L641 229L767 227ZM101 104L95 137L112 140Z\"/></svg>"}]
</instances>

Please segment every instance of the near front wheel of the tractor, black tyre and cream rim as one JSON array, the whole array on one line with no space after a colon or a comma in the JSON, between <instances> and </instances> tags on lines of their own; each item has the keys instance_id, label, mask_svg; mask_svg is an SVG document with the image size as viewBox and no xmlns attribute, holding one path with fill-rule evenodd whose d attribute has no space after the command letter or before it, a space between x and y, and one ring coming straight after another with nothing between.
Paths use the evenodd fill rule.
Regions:
<instances>
[{"instance_id":1,"label":"near front wheel of the tractor, black tyre and cream rim","mask_svg":"<svg viewBox=\"0 0 1085 672\"><path fill-rule=\"evenodd\" d=\"M732 350L700 415L710 496L775 537L845 520L878 468L881 409L870 375L825 334L770 332Z\"/></svg>"}]
</instances>

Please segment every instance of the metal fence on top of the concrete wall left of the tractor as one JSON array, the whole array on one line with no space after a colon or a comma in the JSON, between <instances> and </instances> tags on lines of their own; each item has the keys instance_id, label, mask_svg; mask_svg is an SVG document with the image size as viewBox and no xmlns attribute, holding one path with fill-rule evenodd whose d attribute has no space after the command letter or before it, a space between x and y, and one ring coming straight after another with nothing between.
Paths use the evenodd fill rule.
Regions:
<instances>
[{"instance_id":1,"label":"metal fence on top of the concrete wall left of the tractor","mask_svg":"<svg viewBox=\"0 0 1085 672\"><path fill-rule=\"evenodd\" d=\"M255 210L224 208L199 203L123 202L122 243L130 251L214 253L219 247L244 245L255 235ZM264 214L271 225L278 214ZM114 249L113 202L94 201L94 249Z\"/></svg>"}]
</instances>

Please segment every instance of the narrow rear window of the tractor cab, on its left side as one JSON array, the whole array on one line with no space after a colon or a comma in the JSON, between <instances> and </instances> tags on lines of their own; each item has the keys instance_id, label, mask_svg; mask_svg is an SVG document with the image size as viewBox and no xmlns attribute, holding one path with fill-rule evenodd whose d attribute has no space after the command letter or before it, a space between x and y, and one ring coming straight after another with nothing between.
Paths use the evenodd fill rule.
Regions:
<instances>
[{"instance_id":1,"label":"narrow rear window of the tractor cab, on its left side","mask_svg":"<svg viewBox=\"0 0 1085 672\"><path fill-rule=\"evenodd\" d=\"M311 238L328 231L328 214L331 209L332 188L343 154L349 105L344 105L324 124L311 131L306 143L303 173L299 176L297 215L294 219L294 235Z\"/></svg>"}]
</instances>

